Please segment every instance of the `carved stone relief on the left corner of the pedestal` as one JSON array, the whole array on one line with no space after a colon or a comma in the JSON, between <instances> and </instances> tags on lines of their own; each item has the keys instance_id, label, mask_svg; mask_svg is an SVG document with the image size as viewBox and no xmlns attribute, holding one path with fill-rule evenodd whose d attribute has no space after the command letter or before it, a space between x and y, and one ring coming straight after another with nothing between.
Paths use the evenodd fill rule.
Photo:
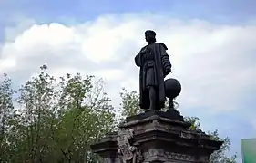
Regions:
<instances>
[{"instance_id":1,"label":"carved stone relief on the left corner of the pedestal","mask_svg":"<svg viewBox=\"0 0 256 163\"><path fill-rule=\"evenodd\" d=\"M120 129L118 131L118 155L123 163L130 161L132 163L141 163L143 161L141 151L129 142L129 139L132 138L133 129Z\"/></svg>"}]
</instances>

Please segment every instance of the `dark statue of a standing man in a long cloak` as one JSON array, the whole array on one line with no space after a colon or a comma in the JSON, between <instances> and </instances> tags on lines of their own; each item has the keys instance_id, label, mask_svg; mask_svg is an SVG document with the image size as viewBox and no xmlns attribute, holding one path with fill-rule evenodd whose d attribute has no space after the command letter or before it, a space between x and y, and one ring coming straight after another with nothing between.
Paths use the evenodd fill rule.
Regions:
<instances>
[{"instance_id":1,"label":"dark statue of a standing man in a long cloak","mask_svg":"<svg viewBox=\"0 0 256 163\"><path fill-rule=\"evenodd\" d=\"M141 109L159 110L164 108L164 78L171 72L168 49L164 43L156 43L156 33L145 32L148 45L135 57L139 70L139 106Z\"/></svg>"}]
</instances>

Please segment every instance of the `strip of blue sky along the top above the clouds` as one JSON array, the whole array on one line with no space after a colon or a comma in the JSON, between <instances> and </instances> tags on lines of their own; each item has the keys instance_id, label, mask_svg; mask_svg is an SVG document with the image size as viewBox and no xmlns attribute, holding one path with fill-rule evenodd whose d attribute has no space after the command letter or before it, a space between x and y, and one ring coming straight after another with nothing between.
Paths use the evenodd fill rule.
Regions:
<instances>
[{"instance_id":1,"label":"strip of blue sky along the top above the clouds","mask_svg":"<svg viewBox=\"0 0 256 163\"><path fill-rule=\"evenodd\" d=\"M256 14L253 0L2 0L2 21L15 16L35 17L41 21L56 21L62 17L85 21L106 13L153 12L182 18L200 18L221 23L238 23ZM5 20L4 20L5 18Z\"/></svg>"}]
</instances>

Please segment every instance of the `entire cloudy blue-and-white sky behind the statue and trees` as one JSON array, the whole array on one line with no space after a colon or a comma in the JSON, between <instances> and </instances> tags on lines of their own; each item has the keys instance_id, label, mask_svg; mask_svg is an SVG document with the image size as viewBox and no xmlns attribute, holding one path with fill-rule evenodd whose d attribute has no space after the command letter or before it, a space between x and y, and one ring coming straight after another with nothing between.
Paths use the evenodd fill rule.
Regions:
<instances>
[{"instance_id":1,"label":"entire cloudy blue-and-white sky behind the statue and trees","mask_svg":"<svg viewBox=\"0 0 256 163\"><path fill-rule=\"evenodd\" d=\"M0 0L0 73L15 84L47 64L52 74L102 77L118 107L122 87L138 91L134 56L144 31L168 47L183 90L179 110L205 130L256 137L256 1ZM254 54L253 54L254 53ZM241 161L241 160L239 160Z\"/></svg>"}]
</instances>

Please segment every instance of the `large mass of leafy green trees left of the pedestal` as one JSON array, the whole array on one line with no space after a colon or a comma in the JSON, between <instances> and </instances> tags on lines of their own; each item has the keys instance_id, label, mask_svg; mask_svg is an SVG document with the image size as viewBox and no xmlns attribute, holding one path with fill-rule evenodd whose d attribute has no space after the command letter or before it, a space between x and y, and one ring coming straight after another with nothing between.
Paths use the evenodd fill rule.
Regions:
<instances>
[{"instance_id":1,"label":"large mass of leafy green trees left of the pedestal","mask_svg":"<svg viewBox=\"0 0 256 163\"><path fill-rule=\"evenodd\" d=\"M102 80L79 73L56 79L46 69L15 100L11 80L0 85L0 162L96 162L90 145L116 128Z\"/></svg>"}]
</instances>

